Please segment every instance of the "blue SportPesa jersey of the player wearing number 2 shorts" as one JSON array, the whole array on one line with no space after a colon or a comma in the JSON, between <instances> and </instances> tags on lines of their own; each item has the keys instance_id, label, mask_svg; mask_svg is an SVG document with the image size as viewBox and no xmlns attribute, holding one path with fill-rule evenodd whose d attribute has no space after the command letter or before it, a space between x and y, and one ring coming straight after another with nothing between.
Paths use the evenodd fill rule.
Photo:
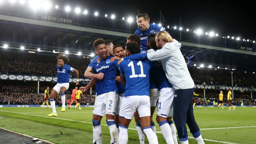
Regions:
<instances>
[{"instance_id":1,"label":"blue SportPesa jersey of the player wearing number 2 shorts","mask_svg":"<svg viewBox=\"0 0 256 144\"><path fill-rule=\"evenodd\" d=\"M104 78L102 80L98 79L96 83L97 95L117 91L117 84L115 78L118 72L118 60L111 62L111 58L112 56L107 56L106 59L100 60L99 63L97 63L97 61L96 63L95 61L92 61L88 66L91 67L95 71L95 73L104 74Z\"/></svg>"}]
</instances>

